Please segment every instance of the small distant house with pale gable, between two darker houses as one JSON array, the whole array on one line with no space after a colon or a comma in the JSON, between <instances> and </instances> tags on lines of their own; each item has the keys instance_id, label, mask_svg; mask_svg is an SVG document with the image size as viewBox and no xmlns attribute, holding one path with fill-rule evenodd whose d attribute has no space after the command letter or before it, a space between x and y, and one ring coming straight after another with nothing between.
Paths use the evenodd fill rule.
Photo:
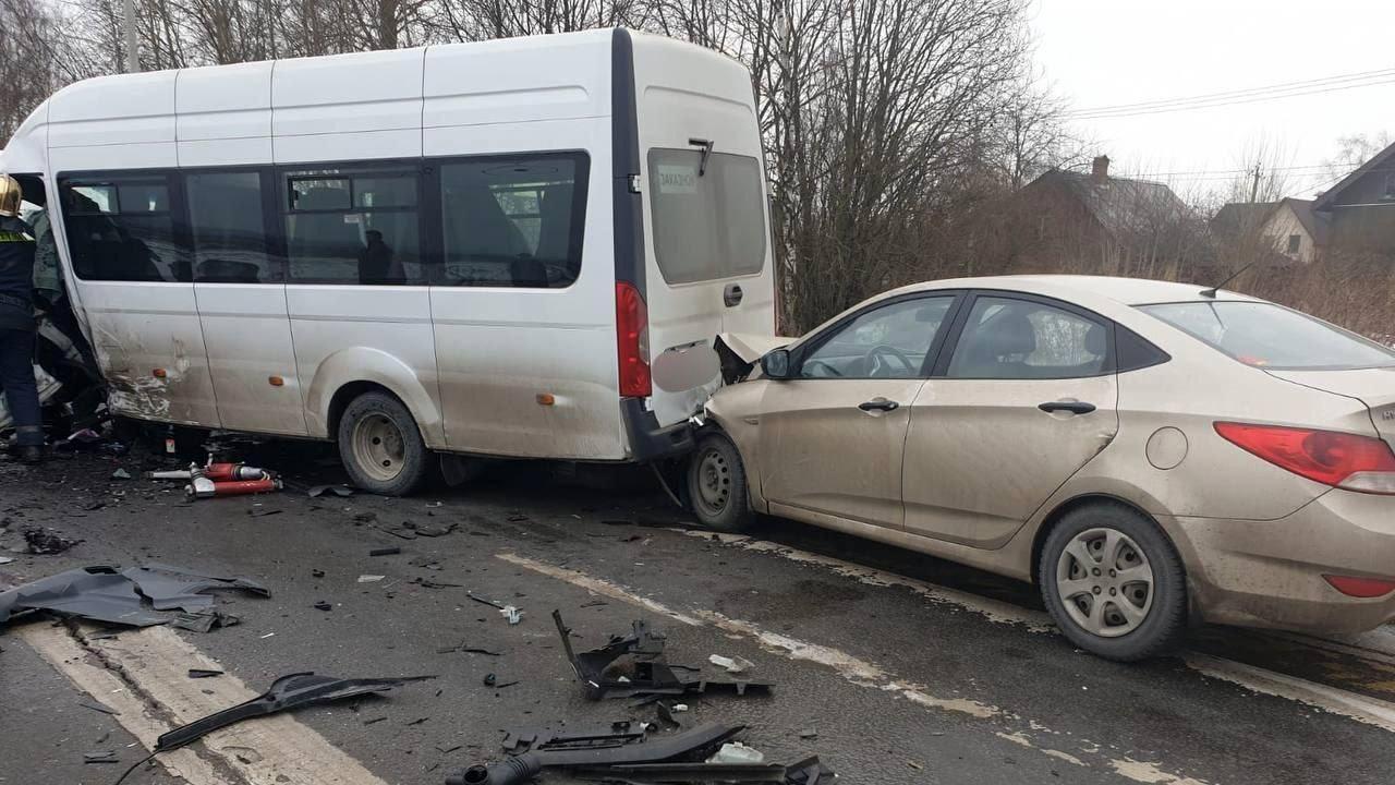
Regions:
<instances>
[{"instance_id":1,"label":"small distant house with pale gable, between two darker houses","mask_svg":"<svg viewBox=\"0 0 1395 785\"><path fill-rule=\"evenodd\" d=\"M1321 257L1329 235L1327 217L1313 205L1302 198L1230 203L1211 219L1211 233L1223 256L1310 264Z\"/></svg>"}]
</instances>

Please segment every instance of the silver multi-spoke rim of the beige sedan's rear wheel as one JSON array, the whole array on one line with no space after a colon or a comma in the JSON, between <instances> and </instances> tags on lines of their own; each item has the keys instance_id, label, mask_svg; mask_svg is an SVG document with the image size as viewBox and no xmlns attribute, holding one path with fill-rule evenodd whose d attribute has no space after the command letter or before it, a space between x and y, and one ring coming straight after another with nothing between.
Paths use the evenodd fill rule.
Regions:
<instances>
[{"instance_id":1,"label":"silver multi-spoke rim of the beige sedan's rear wheel","mask_svg":"<svg viewBox=\"0 0 1395 785\"><path fill-rule=\"evenodd\" d=\"M1070 539L1056 560L1056 592L1080 629L1102 638L1137 630L1152 609L1155 578L1133 538L1108 527Z\"/></svg>"}]
</instances>

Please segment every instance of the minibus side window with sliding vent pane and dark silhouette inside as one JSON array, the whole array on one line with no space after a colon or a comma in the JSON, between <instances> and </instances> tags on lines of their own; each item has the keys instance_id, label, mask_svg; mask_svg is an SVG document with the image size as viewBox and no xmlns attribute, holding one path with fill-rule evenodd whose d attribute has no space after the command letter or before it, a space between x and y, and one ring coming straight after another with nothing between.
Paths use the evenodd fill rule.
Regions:
<instances>
[{"instance_id":1,"label":"minibus side window with sliding vent pane and dark silhouette inside","mask_svg":"<svg viewBox=\"0 0 1395 785\"><path fill-rule=\"evenodd\" d=\"M294 170L282 180L292 282L427 282L414 168Z\"/></svg>"}]
</instances>

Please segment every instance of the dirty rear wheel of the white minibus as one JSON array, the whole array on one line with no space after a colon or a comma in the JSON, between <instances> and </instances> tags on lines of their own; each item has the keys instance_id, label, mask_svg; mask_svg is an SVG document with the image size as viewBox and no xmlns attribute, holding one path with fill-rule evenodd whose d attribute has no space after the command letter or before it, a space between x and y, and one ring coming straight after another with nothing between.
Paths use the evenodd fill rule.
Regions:
<instances>
[{"instance_id":1,"label":"dirty rear wheel of the white minibus","mask_svg":"<svg viewBox=\"0 0 1395 785\"><path fill-rule=\"evenodd\" d=\"M354 486L381 496L407 496L431 474L431 451L417 420L386 392L364 392L339 418L339 460Z\"/></svg>"}]
</instances>

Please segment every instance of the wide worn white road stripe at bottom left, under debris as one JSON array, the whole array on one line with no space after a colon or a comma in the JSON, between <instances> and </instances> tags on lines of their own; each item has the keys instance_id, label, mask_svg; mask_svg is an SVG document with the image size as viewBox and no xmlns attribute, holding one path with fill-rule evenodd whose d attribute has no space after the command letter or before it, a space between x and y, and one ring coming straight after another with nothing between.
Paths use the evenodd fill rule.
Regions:
<instances>
[{"instance_id":1,"label":"wide worn white road stripe at bottom left, under debris","mask_svg":"<svg viewBox=\"0 0 1395 785\"><path fill-rule=\"evenodd\" d=\"M88 638L85 647L63 627L27 624L15 633L80 689L120 711L116 719L146 749L153 749L155 739L177 725L258 694L230 673L190 679L190 668L223 668L166 627ZM96 663L93 652L119 666L126 680ZM162 753L155 760L198 785L386 785L286 714L215 731L201 744L216 760L198 756L193 746ZM220 771L232 771L237 779L229 781Z\"/></svg>"}]
</instances>

